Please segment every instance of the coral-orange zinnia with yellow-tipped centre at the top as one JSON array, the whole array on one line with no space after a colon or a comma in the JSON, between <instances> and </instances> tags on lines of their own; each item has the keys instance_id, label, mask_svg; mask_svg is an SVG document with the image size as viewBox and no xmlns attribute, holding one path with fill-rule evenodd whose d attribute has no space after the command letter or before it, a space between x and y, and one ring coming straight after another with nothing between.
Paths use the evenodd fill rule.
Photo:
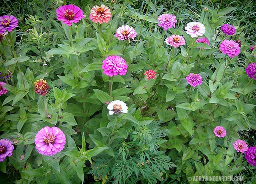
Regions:
<instances>
[{"instance_id":1,"label":"coral-orange zinnia with yellow-tipped centre at the top","mask_svg":"<svg viewBox=\"0 0 256 184\"><path fill-rule=\"evenodd\" d=\"M94 23L108 23L111 16L110 9L104 4L102 4L100 7L97 5L94 6L90 12L90 20L92 20Z\"/></svg>"}]
</instances>

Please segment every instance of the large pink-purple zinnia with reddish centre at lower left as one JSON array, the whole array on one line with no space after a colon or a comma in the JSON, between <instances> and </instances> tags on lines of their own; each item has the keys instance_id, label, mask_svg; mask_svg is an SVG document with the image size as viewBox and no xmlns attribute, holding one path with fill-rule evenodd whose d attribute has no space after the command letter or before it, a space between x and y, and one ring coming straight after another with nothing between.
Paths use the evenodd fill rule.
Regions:
<instances>
[{"instance_id":1,"label":"large pink-purple zinnia with reddish centre at lower left","mask_svg":"<svg viewBox=\"0 0 256 184\"><path fill-rule=\"evenodd\" d=\"M35 144L40 154L52 156L64 149L66 137L60 128L46 126L37 132Z\"/></svg>"}]
</instances>

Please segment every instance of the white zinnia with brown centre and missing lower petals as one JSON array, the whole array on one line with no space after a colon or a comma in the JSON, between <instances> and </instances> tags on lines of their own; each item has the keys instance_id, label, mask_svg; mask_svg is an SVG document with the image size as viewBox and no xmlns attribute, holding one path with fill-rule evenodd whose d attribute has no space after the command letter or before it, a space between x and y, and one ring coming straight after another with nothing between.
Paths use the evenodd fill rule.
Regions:
<instances>
[{"instance_id":1,"label":"white zinnia with brown centre and missing lower petals","mask_svg":"<svg viewBox=\"0 0 256 184\"><path fill-rule=\"evenodd\" d=\"M110 115L112 114L121 114L121 113L127 113L128 112L128 107L126 103L124 103L121 100L114 100L108 104L108 113Z\"/></svg>"}]
</instances>

